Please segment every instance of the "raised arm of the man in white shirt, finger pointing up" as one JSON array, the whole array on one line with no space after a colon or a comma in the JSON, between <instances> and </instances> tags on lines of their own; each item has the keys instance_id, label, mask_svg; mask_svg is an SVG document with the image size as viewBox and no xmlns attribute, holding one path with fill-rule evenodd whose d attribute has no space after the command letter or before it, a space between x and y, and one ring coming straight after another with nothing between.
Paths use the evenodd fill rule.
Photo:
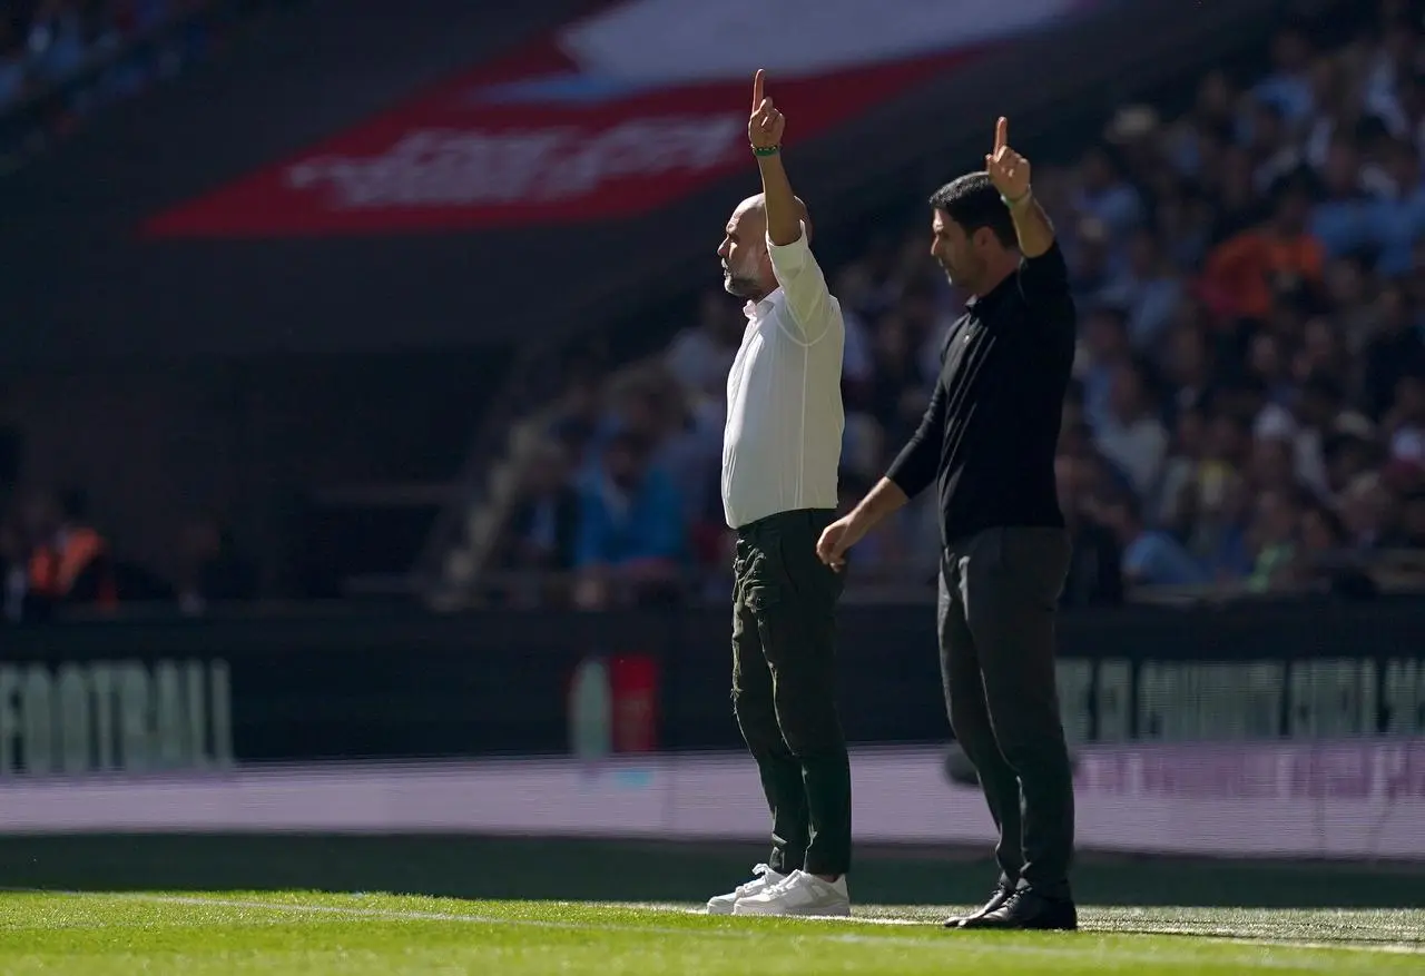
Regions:
<instances>
[{"instance_id":1,"label":"raised arm of the man in white shirt, finger pointing up","mask_svg":"<svg viewBox=\"0 0 1425 976\"><path fill-rule=\"evenodd\" d=\"M811 219L807 205L792 192L782 167L782 133L787 120L764 93L765 74L752 80L752 117L747 138L762 172L762 207L767 212L767 252L787 308L801 326L801 338L817 342L834 326L826 278L811 254Z\"/></svg>"}]
</instances>

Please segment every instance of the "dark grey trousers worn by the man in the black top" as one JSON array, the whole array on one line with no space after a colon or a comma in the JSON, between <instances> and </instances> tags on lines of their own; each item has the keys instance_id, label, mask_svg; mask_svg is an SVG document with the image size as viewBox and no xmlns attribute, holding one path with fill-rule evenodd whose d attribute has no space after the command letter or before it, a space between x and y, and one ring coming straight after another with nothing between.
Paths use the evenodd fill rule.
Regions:
<instances>
[{"instance_id":1,"label":"dark grey trousers worn by the man in the black top","mask_svg":"<svg viewBox=\"0 0 1425 976\"><path fill-rule=\"evenodd\" d=\"M1002 881L1069 898L1073 774L1054 681L1069 570L1059 529L988 529L940 563L940 675L950 727L999 829Z\"/></svg>"}]
</instances>

